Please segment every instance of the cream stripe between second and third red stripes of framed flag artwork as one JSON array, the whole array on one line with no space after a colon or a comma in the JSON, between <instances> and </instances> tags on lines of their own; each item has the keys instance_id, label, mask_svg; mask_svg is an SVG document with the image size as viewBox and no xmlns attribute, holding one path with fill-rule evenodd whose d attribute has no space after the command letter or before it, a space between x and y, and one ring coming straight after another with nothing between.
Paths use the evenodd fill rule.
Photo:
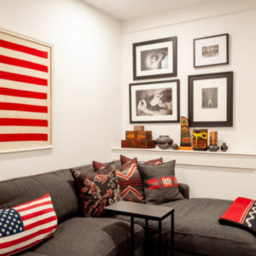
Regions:
<instances>
[{"instance_id":1,"label":"cream stripe between second and third red stripes of framed flag artwork","mask_svg":"<svg viewBox=\"0 0 256 256\"><path fill-rule=\"evenodd\" d=\"M49 79L49 73L37 71L37 70L31 69L31 68L17 67L17 66L13 66L13 65L7 65L7 64L0 63L0 69L1 69L1 71L4 71L4 72L17 73L20 75L35 77L38 79Z\"/></svg>"}]
</instances>

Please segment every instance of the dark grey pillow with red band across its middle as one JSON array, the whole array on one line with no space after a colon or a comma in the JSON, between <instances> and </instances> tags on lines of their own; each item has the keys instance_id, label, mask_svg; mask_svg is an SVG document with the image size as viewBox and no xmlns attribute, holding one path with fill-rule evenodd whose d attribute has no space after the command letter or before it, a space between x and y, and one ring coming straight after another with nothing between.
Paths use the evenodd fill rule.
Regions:
<instances>
[{"instance_id":1,"label":"dark grey pillow with red band across its middle","mask_svg":"<svg viewBox=\"0 0 256 256\"><path fill-rule=\"evenodd\" d=\"M175 177L175 162L172 160L159 166L137 164L143 180L146 203L161 204L183 199Z\"/></svg>"}]
</instances>

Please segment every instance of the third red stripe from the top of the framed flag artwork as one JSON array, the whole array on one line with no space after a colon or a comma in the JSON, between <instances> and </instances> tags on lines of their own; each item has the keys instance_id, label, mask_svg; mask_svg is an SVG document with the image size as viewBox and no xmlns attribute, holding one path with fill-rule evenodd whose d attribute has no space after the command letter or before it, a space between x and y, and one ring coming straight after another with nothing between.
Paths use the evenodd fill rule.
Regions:
<instances>
[{"instance_id":1,"label":"third red stripe from the top of the framed flag artwork","mask_svg":"<svg viewBox=\"0 0 256 256\"><path fill-rule=\"evenodd\" d=\"M27 84L37 84L37 85L48 85L47 79L39 79L36 77L21 75L20 73L9 73L0 71L0 79L11 80L15 82L27 83Z\"/></svg>"}]
</instances>

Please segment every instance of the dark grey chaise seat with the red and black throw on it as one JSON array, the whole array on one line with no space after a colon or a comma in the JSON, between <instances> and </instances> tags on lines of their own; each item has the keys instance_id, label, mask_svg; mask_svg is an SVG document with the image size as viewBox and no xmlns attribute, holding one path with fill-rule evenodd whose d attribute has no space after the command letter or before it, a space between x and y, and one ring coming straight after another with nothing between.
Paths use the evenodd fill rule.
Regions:
<instances>
[{"instance_id":1,"label":"dark grey chaise seat with the red and black throw on it","mask_svg":"<svg viewBox=\"0 0 256 256\"><path fill-rule=\"evenodd\" d=\"M230 207L232 201L191 198L170 201L162 204L175 208L175 249L185 253L214 256L253 256L256 255L256 237L246 230L224 226L218 218ZM119 216L120 219L126 219ZM137 224L144 225L136 218ZM152 243L157 242L158 224L149 221ZM171 244L171 219L162 222L163 244Z\"/></svg>"}]
</instances>

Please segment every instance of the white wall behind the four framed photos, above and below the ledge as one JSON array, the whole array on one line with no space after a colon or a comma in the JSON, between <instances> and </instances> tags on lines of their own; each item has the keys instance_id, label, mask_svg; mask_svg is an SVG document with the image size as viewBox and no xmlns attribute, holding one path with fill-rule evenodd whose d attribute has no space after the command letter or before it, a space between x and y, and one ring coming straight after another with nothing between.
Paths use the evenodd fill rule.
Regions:
<instances>
[{"instance_id":1,"label":"white wall behind the four framed photos, above and below the ledge","mask_svg":"<svg viewBox=\"0 0 256 256\"><path fill-rule=\"evenodd\" d=\"M162 18L159 14L137 20L126 20L123 23L122 137L125 137L125 130L132 130L129 122L129 83L136 82L132 80L132 44L177 36L177 77L170 79L180 79L181 82L181 115L188 116L188 75L233 71L234 126L208 130L218 131L219 143L226 142L230 151L255 154L256 10L240 12L236 9L236 13L223 14L222 6L219 5L218 8L221 15L210 15L211 18L206 18L207 9L203 8L190 9L191 12L180 11L180 15L183 16L179 17L177 22L170 18L169 25L166 21L167 12ZM212 9L209 9L209 12L211 11ZM172 17L171 12L169 16ZM230 34L230 65L195 69L193 38L222 33ZM147 81L153 80L155 79ZM180 124L145 124L145 127L146 130L153 131L154 138L159 135L169 135L175 143L180 143ZM249 197L255 195L255 170L178 166L177 177L179 182L189 183L192 196L234 199L238 195Z\"/></svg>"}]
</instances>

